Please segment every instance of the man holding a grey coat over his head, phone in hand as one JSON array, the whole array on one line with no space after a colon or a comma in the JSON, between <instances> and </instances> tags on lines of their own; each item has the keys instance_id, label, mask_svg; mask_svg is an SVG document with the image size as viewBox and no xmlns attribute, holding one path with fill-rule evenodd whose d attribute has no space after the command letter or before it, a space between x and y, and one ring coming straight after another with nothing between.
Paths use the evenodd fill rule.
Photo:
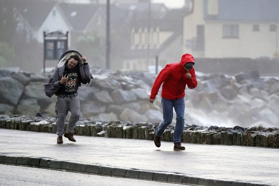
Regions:
<instances>
[{"instance_id":1,"label":"man holding a grey coat over his head, phone in hand","mask_svg":"<svg viewBox=\"0 0 279 186\"><path fill-rule=\"evenodd\" d=\"M49 94L47 94L48 96L51 97L53 93L57 96L55 112L58 144L63 143L63 128L69 111L71 116L64 137L67 137L72 142L76 142L72 131L80 116L78 87L81 86L81 83L89 83L90 79L93 78L85 56L82 56L77 51L67 51L65 53L65 55L61 56L56 71L50 79L48 85L51 88L45 86L46 94Z\"/></svg>"}]
</instances>

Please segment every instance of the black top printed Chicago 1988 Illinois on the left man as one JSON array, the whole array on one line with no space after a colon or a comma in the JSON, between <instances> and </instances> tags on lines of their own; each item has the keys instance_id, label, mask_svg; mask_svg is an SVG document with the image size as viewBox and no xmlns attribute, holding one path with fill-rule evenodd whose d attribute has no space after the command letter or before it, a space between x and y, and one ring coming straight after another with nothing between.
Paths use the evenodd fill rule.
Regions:
<instances>
[{"instance_id":1,"label":"black top printed Chicago 1988 Illinois on the left man","mask_svg":"<svg viewBox=\"0 0 279 186\"><path fill-rule=\"evenodd\" d=\"M68 81L66 81L63 85L61 85L57 93L75 94L78 91L78 85L80 79L79 68L68 69L67 64L65 64L64 71L67 71Z\"/></svg>"}]
</instances>

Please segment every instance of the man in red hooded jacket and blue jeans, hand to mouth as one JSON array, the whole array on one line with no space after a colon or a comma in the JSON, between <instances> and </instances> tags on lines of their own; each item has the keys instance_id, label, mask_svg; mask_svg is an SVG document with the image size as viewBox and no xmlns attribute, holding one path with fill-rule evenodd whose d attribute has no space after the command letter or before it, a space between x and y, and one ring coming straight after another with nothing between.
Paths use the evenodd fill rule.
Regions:
<instances>
[{"instance_id":1,"label":"man in red hooded jacket and blue jeans, hand to mouth","mask_svg":"<svg viewBox=\"0 0 279 186\"><path fill-rule=\"evenodd\" d=\"M174 129L174 150L185 150L181 146L180 136L184 128L184 110L185 110L185 88L189 89L197 86L196 74L193 68L195 64L194 57L191 54L184 54L178 63L167 64L157 76L149 98L149 102L153 103L158 90L162 86L162 109L163 121L157 127L154 133L154 143L157 147L161 146L161 136L165 128L172 122L173 108L176 112L176 125Z\"/></svg>"}]
</instances>

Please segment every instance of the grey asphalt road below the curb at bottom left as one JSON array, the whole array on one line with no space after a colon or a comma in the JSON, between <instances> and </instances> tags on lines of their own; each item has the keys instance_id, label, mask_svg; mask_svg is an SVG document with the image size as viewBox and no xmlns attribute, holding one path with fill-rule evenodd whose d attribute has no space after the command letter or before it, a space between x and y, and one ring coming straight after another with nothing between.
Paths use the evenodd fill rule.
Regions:
<instances>
[{"instance_id":1,"label":"grey asphalt road below the curb at bottom left","mask_svg":"<svg viewBox=\"0 0 279 186\"><path fill-rule=\"evenodd\" d=\"M0 164L0 185L176 186L178 184Z\"/></svg>"}]
</instances>

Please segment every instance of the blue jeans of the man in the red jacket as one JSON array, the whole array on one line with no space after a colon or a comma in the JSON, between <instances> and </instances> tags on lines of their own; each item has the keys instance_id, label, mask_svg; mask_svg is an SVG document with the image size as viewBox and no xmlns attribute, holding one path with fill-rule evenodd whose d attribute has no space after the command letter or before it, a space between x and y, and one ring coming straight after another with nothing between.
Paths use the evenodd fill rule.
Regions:
<instances>
[{"instance_id":1,"label":"blue jeans of the man in the red jacket","mask_svg":"<svg viewBox=\"0 0 279 186\"><path fill-rule=\"evenodd\" d=\"M165 99L162 98L162 108L163 108L163 121L156 129L156 136L160 137L164 133L165 128L169 126L172 122L173 108L176 112L176 124L174 129L174 143L180 142L180 136L184 128L184 111L185 111L185 102L184 97L177 100Z\"/></svg>"}]
</instances>

